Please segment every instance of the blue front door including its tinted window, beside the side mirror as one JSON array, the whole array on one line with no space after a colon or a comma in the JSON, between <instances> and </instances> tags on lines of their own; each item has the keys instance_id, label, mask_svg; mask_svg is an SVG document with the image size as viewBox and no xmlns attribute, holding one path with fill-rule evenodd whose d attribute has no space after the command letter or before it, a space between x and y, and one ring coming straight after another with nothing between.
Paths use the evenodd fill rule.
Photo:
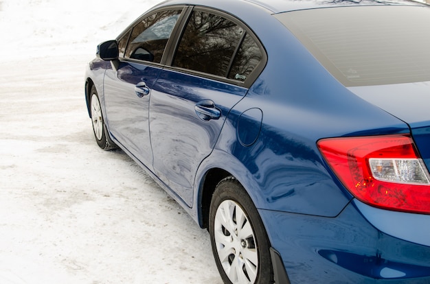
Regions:
<instances>
[{"instance_id":1,"label":"blue front door including its tinted window, beside the side mirror","mask_svg":"<svg viewBox=\"0 0 430 284\"><path fill-rule=\"evenodd\" d=\"M151 88L181 7L153 12L120 40L120 60L104 77L104 104L109 131L146 167L152 166L148 110Z\"/></svg>"}]
</instances>

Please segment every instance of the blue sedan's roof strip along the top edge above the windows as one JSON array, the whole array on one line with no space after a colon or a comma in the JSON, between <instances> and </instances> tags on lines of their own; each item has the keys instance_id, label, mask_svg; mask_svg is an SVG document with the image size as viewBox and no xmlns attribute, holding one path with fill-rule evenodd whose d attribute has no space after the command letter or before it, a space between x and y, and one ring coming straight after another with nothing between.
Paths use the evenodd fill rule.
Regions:
<instances>
[{"instance_id":1,"label":"blue sedan's roof strip along the top edge above the windows","mask_svg":"<svg viewBox=\"0 0 430 284\"><path fill-rule=\"evenodd\" d=\"M167 0L159 5L207 5L220 10L230 6L258 6L269 14L315 8L345 7L358 5L425 5L414 0ZM159 6L157 5L157 6Z\"/></svg>"}]
</instances>

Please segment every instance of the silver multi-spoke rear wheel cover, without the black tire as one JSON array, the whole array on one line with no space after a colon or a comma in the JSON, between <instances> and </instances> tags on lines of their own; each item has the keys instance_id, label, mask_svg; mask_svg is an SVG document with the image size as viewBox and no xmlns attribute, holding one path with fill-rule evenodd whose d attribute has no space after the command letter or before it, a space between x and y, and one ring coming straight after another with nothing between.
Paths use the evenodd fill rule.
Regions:
<instances>
[{"instance_id":1,"label":"silver multi-spoke rear wheel cover, without the black tire","mask_svg":"<svg viewBox=\"0 0 430 284\"><path fill-rule=\"evenodd\" d=\"M231 283L254 283L258 273L258 250L247 215L233 200L216 210L214 239L218 257Z\"/></svg>"}]
</instances>

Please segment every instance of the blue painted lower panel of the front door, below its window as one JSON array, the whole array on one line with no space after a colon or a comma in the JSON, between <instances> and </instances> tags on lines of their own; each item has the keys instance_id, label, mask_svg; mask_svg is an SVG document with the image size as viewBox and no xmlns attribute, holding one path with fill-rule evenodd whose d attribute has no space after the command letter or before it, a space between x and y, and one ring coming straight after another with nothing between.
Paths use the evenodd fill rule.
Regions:
<instances>
[{"instance_id":1,"label":"blue painted lower panel of the front door, below its window","mask_svg":"<svg viewBox=\"0 0 430 284\"><path fill-rule=\"evenodd\" d=\"M160 68L135 62L122 62L117 70L106 69L104 75L105 120L111 135L146 167L152 169L149 137L149 102L152 94L137 95L137 84L152 88Z\"/></svg>"}]
</instances>

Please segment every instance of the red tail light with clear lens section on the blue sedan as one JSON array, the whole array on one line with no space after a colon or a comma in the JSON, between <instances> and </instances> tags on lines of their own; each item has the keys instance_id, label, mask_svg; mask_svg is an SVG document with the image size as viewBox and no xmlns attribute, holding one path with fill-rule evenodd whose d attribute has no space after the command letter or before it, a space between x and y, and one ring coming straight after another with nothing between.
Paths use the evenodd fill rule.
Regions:
<instances>
[{"instance_id":1,"label":"red tail light with clear lens section on the blue sedan","mask_svg":"<svg viewBox=\"0 0 430 284\"><path fill-rule=\"evenodd\" d=\"M430 175L408 134L321 139L321 154L352 195L372 206L430 214Z\"/></svg>"}]
</instances>

